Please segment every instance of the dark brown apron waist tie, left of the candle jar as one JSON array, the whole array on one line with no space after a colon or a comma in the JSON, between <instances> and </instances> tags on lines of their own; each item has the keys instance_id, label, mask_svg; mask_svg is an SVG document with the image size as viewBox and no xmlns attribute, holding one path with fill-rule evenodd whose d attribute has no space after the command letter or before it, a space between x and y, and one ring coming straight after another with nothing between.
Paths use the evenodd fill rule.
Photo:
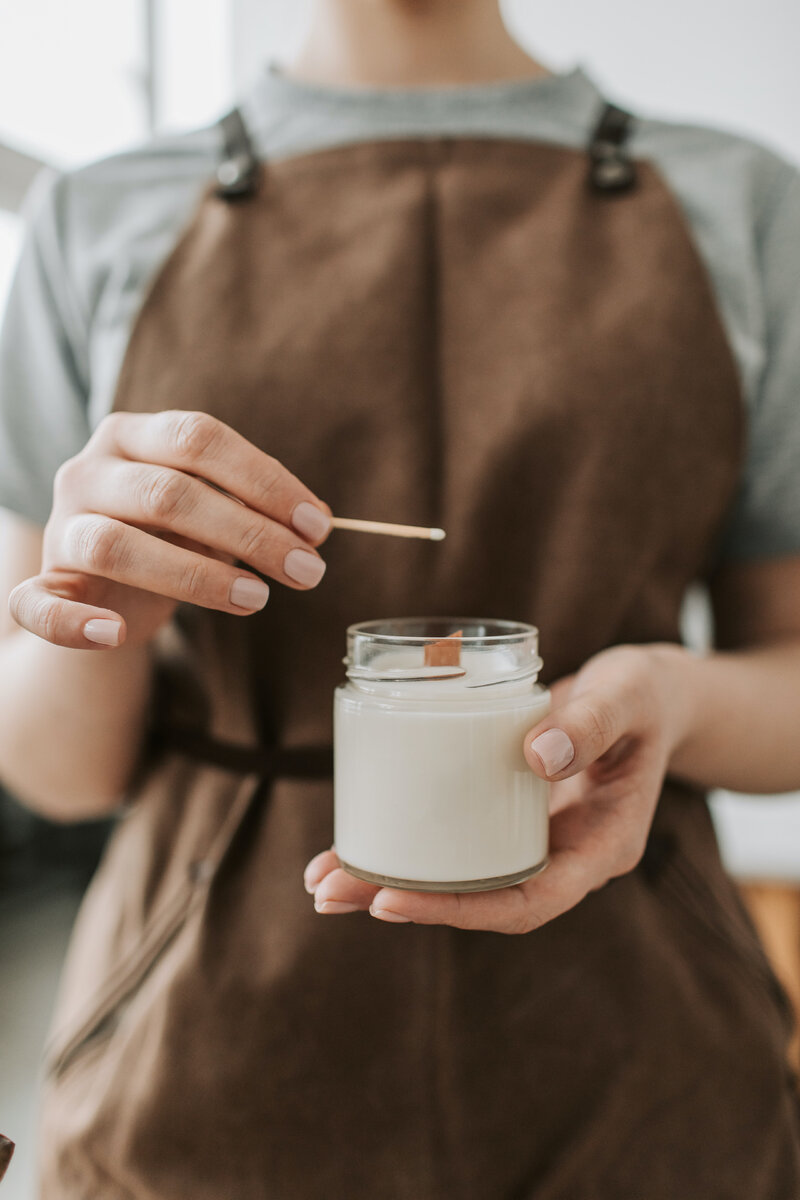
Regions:
<instances>
[{"instance_id":1,"label":"dark brown apron waist tie, left of the candle jar","mask_svg":"<svg viewBox=\"0 0 800 1200\"><path fill-rule=\"evenodd\" d=\"M151 736L154 751L172 750L210 767L265 779L332 779L333 748L242 746L221 742L201 730L162 727Z\"/></svg>"}]
</instances>

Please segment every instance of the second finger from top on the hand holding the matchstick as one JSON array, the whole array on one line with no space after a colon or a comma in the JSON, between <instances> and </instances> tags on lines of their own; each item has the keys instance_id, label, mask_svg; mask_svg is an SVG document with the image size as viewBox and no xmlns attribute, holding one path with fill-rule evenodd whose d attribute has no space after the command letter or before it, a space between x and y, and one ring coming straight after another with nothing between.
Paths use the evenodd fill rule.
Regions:
<instances>
[{"instance_id":1,"label":"second finger from top on the hand holding the matchstick","mask_svg":"<svg viewBox=\"0 0 800 1200\"><path fill-rule=\"evenodd\" d=\"M90 511L207 545L291 588L315 587L325 574L309 542L193 475L126 460L109 464L85 497Z\"/></svg>"}]
</instances>

